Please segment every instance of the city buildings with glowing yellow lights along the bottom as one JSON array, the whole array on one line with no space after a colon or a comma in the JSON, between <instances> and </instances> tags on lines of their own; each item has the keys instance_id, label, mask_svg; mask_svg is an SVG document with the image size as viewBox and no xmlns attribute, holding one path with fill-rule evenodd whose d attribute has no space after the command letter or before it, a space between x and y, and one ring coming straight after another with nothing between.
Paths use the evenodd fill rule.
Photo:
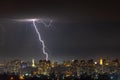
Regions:
<instances>
[{"instance_id":1,"label":"city buildings with glowing yellow lights along the bottom","mask_svg":"<svg viewBox=\"0 0 120 80\"><path fill-rule=\"evenodd\" d=\"M120 63L109 58L69 60L60 64L12 60L0 64L0 80L120 80Z\"/></svg>"}]
</instances>

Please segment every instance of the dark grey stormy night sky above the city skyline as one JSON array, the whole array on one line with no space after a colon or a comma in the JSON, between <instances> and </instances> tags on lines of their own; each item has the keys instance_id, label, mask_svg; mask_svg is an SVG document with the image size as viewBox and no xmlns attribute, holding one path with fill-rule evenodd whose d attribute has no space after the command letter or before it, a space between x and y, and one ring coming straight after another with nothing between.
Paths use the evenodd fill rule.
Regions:
<instances>
[{"instance_id":1,"label":"dark grey stormy night sky above the city skyline","mask_svg":"<svg viewBox=\"0 0 120 80\"><path fill-rule=\"evenodd\" d=\"M52 19L50 28L37 23L50 60L120 57L119 2L0 2L0 60L45 59L31 22L12 19Z\"/></svg>"}]
</instances>

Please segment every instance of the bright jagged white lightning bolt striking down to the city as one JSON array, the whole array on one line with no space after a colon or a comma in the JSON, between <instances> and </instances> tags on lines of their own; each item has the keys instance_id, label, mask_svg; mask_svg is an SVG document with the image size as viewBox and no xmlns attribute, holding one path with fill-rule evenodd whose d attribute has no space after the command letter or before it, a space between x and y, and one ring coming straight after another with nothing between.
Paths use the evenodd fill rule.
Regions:
<instances>
[{"instance_id":1,"label":"bright jagged white lightning bolt striking down to the city","mask_svg":"<svg viewBox=\"0 0 120 80\"><path fill-rule=\"evenodd\" d=\"M47 61L47 60L48 60L48 53L45 51L45 43L44 43L44 41L43 41L42 38L41 38L40 32L38 31L38 28L37 28L37 26L36 26L35 21L36 21L36 20L33 19L33 20L32 20L32 23L33 23L33 26L34 26L34 28L35 28L35 31L36 31L36 33L37 33L37 35L38 35L39 41L42 43L42 51L43 51L43 54L46 55L46 61Z\"/></svg>"}]
</instances>

